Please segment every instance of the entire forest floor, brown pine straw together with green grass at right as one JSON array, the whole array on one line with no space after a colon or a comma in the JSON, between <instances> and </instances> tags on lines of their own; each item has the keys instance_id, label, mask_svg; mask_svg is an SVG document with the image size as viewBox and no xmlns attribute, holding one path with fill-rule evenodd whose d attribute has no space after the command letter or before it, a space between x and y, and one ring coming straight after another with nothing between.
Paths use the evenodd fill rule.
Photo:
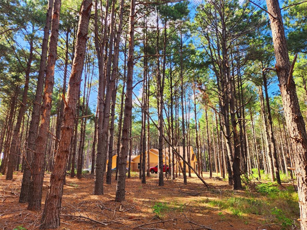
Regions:
<instances>
[{"instance_id":1,"label":"entire forest floor, brown pine straw together with green grass at right","mask_svg":"<svg viewBox=\"0 0 307 230\"><path fill-rule=\"evenodd\" d=\"M165 179L165 185L159 187L157 174L151 174L146 184L141 184L138 174L132 173L132 177L126 179L126 200L120 204L114 201L116 181L113 174L112 184L104 185L102 196L91 194L93 176L84 175L81 179L67 176L61 208L64 216L58 229L298 228L297 195L291 183L283 184L274 195L263 195L251 189L252 186L233 191L225 179L208 177L208 173L204 173L205 181L215 187L212 190L206 189L195 174L188 178L186 186L181 176L175 181ZM39 228L41 211L28 211L27 204L18 203L21 179L20 172L14 172L13 181L0 176L1 229ZM45 173L43 203L49 179L50 173ZM80 218L80 215L91 220ZM97 220L107 225L94 222Z\"/></svg>"}]
</instances>

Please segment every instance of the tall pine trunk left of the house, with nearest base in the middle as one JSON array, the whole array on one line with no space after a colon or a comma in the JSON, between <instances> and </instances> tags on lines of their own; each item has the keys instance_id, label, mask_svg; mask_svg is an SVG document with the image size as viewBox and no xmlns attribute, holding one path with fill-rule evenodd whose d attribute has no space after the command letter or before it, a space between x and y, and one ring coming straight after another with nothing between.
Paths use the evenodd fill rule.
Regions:
<instances>
[{"instance_id":1,"label":"tall pine trunk left of the house, with nearest base in the middle","mask_svg":"<svg viewBox=\"0 0 307 230\"><path fill-rule=\"evenodd\" d=\"M135 0L131 0L129 20L129 51L127 63L127 88L124 108L124 121L122 125L122 147L119 153L118 180L115 193L115 201L125 200L126 162L129 151L129 134L132 114L132 77L133 77L133 52L134 52L134 15Z\"/></svg>"}]
</instances>

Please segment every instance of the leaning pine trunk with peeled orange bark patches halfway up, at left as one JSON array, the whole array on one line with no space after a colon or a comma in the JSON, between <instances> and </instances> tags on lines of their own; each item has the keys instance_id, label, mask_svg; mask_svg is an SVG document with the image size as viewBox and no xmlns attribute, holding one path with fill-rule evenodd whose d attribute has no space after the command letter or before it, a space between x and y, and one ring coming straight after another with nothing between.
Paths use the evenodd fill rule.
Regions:
<instances>
[{"instance_id":1,"label":"leaning pine trunk with peeled orange bark patches halfway up, at left","mask_svg":"<svg viewBox=\"0 0 307 230\"><path fill-rule=\"evenodd\" d=\"M61 0L55 0L53 4L49 55L46 67L45 89L41 113L41 125L39 127L36 149L34 155L33 174L31 180L29 210L41 209L41 194L43 190L45 172L45 151L48 141L52 90L54 84L54 67L56 64L56 49L59 36Z\"/></svg>"}]
</instances>

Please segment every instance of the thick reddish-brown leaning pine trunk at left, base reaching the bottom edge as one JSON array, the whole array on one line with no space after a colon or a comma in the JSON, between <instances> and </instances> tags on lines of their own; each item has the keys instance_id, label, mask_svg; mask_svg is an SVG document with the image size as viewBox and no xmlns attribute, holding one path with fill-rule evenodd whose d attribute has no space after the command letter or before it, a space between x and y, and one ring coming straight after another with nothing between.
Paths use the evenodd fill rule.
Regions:
<instances>
[{"instance_id":1,"label":"thick reddish-brown leaning pine trunk at left, base reaching the bottom edge","mask_svg":"<svg viewBox=\"0 0 307 230\"><path fill-rule=\"evenodd\" d=\"M75 56L68 83L67 97L64 102L64 120L61 127L58 148L54 157L54 165L46 195L44 212L41 219L41 229L57 228L60 226L60 209L63 195L64 173L69 154L74 120L76 117L76 104L84 64L91 6L92 0L84 0L80 9Z\"/></svg>"}]
</instances>

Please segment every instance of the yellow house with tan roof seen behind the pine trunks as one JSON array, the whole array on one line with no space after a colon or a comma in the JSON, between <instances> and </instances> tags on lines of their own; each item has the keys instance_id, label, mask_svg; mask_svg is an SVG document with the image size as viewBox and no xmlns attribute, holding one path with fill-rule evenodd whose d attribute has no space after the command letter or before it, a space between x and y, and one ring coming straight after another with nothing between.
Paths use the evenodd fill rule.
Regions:
<instances>
[{"instance_id":1,"label":"yellow house with tan roof seen behind the pine trunks","mask_svg":"<svg viewBox=\"0 0 307 230\"><path fill-rule=\"evenodd\" d=\"M172 148L170 148L170 153L172 154ZM183 147L177 147L177 151L182 156L183 155ZM185 147L185 160L188 162L188 151L190 151L190 164L191 166L196 169L196 156L194 154L192 146ZM165 163L165 153L166 153L166 164L169 163L169 148L163 149L163 163ZM155 167L158 165L159 161L159 150L155 148L151 148L149 150L149 160L150 160L150 167ZM116 159L115 159L116 160ZM172 160L172 159L171 159ZM183 161L180 157L176 157L175 155L175 161L178 161L181 163L181 166L183 167ZM147 167L147 151L146 151L146 167ZM131 171L138 171L140 168L140 155L137 155L133 158L131 158ZM179 166L177 164L177 170L179 170ZM188 171L188 166L186 166L186 171Z\"/></svg>"}]
</instances>

